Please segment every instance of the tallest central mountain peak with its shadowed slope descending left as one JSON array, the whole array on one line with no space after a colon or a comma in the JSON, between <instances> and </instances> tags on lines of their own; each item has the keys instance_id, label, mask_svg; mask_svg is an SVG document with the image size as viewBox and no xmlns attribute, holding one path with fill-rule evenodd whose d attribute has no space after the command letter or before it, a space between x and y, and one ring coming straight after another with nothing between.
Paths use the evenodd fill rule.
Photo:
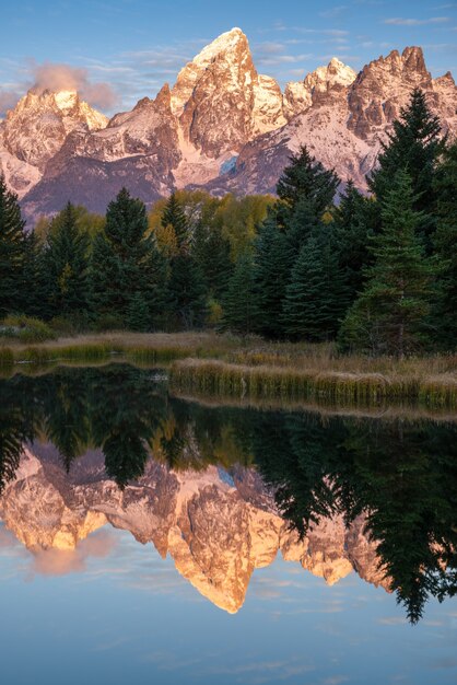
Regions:
<instances>
[{"instance_id":1,"label":"tallest central mountain peak with its shadowed slope descending left","mask_svg":"<svg viewBox=\"0 0 457 685\"><path fill-rule=\"evenodd\" d=\"M246 36L233 28L155 100L116 115L103 131L70 135L25 208L51 212L72 199L104 211L124 185L151 202L174 187L219 176L248 141L285 123L281 89L257 73Z\"/></svg>"}]
</instances>

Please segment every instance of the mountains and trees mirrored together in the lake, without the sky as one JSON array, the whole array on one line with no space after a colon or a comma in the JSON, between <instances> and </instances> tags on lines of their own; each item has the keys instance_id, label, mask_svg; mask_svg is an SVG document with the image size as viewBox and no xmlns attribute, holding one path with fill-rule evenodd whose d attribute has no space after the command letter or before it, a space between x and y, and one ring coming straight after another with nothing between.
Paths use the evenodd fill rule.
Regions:
<instances>
[{"instance_id":1,"label":"mountains and trees mirrored together in the lake, without the sky","mask_svg":"<svg viewBox=\"0 0 457 685\"><path fill-rule=\"evenodd\" d=\"M231 612L278 550L329 583L354 569L411 620L456 591L454 425L210 409L125 365L16 375L0 399L0 514L33 552L109 522Z\"/></svg>"}]
</instances>

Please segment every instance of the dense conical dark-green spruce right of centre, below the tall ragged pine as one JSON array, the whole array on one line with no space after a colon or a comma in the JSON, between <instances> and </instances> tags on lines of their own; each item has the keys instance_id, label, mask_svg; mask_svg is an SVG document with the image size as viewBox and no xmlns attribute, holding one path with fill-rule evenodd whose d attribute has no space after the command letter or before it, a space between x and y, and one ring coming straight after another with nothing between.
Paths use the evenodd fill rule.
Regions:
<instances>
[{"instance_id":1,"label":"dense conical dark-green spruce right of centre, below the tall ragged pine","mask_svg":"<svg viewBox=\"0 0 457 685\"><path fill-rule=\"evenodd\" d=\"M285 292L283 324L293 339L335 337L348 295L330 236L312 235L303 245Z\"/></svg>"}]
</instances>

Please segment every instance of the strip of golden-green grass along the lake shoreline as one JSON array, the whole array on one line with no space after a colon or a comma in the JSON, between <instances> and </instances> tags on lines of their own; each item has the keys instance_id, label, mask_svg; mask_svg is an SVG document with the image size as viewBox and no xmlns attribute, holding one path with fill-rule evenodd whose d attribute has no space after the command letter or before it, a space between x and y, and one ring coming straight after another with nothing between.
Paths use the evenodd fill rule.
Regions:
<instances>
[{"instance_id":1,"label":"strip of golden-green grass along the lake shoreline","mask_svg":"<svg viewBox=\"0 0 457 685\"><path fill-rule=\"evenodd\" d=\"M215 333L109 333L35 345L3 341L0 371L17 364L106 363L168 365L179 393L247 400L319 402L371 406L409 402L457 408L457 357L399 361L338 356L332 345L266 342Z\"/></svg>"}]
</instances>

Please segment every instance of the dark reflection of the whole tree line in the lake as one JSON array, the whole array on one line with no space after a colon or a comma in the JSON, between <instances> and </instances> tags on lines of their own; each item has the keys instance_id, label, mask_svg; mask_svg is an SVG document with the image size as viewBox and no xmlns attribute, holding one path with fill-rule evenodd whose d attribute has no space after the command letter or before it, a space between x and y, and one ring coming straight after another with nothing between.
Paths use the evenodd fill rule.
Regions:
<instances>
[{"instance_id":1,"label":"dark reflection of the whole tree line in the lake","mask_svg":"<svg viewBox=\"0 0 457 685\"><path fill-rule=\"evenodd\" d=\"M150 373L124 364L60 369L0 381L0 490L22 444L42 436L65 466L99 448L119 487L138 479L151 453L175 469L255 463L283 516L309 523L362 512L380 564L409 618L429 595L457 588L457 428L242 408L167 397Z\"/></svg>"}]
</instances>

